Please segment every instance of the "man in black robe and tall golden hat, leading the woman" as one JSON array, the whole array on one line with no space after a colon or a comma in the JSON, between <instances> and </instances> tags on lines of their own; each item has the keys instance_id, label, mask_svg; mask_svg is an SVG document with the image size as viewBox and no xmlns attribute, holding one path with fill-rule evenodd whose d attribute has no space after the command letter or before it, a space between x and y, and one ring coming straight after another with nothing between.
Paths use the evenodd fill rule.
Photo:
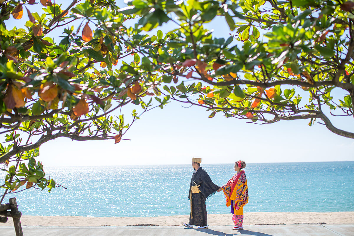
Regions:
<instances>
[{"instance_id":1,"label":"man in black robe and tall golden hat, leading the woman","mask_svg":"<svg viewBox=\"0 0 354 236\"><path fill-rule=\"evenodd\" d=\"M184 223L183 226L193 228L193 225L197 225L198 229L208 229L205 199L215 194L220 187L211 181L209 174L201 168L200 163L201 158L192 159L194 171L188 194L188 200L190 200L189 223Z\"/></svg>"}]
</instances>

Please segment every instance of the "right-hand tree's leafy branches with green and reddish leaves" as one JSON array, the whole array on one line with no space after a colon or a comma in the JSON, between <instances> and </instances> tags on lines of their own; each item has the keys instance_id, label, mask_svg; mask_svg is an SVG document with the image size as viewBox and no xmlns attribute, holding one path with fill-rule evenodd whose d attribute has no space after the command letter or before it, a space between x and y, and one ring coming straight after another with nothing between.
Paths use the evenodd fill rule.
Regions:
<instances>
[{"instance_id":1,"label":"right-hand tree's leafy branches with green and reddish leaves","mask_svg":"<svg viewBox=\"0 0 354 236\"><path fill-rule=\"evenodd\" d=\"M353 117L353 2L134 0L129 5L121 12L138 15L138 28L175 24L165 36L158 31L159 47L139 45L160 78L176 84L161 90L170 99L205 107L210 118L221 113L258 124L309 119L310 126L318 119L330 131L354 138L331 122L333 116ZM229 38L217 38L207 28L216 19L228 25Z\"/></svg>"}]
</instances>

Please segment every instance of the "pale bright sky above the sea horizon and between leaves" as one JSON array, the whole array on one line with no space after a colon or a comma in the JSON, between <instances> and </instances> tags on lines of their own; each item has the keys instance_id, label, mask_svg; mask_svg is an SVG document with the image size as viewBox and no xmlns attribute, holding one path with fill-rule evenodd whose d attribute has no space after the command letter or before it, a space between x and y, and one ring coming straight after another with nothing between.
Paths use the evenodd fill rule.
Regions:
<instances>
[{"instance_id":1,"label":"pale bright sky above the sea horizon and between leaves","mask_svg":"<svg viewBox=\"0 0 354 236\"><path fill-rule=\"evenodd\" d=\"M28 8L35 11L38 7ZM11 17L7 27L21 28L26 20L27 14L21 20ZM174 28L176 25L167 24L161 30ZM208 28L214 29L217 38L229 36L223 19L209 23ZM57 41L59 35L54 33L50 36ZM210 111L182 105L172 102L162 110L156 108L143 114L123 137L131 141L114 144L113 140L79 142L60 138L43 144L36 159L45 166L189 164L192 157L201 157L202 163L354 160L354 139L338 136L318 123L309 127L309 120L255 125L221 114L209 119ZM136 107L124 107L122 113L130 116L132 109ZM353 117L335 117L333 125L354 131Z\"/></svg>"}]
</instances>

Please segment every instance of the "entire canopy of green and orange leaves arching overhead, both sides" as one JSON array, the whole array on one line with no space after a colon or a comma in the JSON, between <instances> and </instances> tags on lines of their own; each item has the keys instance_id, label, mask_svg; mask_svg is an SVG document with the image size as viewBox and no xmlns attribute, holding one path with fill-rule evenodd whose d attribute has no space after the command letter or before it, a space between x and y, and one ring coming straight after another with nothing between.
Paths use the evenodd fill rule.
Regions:
<instances>
[{"instance_id":1,"label":"entire canopy of green and orange leaves arching overhead, both sides","mask_svg":"<svg viewBox=\"0 0 354 236\"><path fill-rule=\"evenodd\" d=\"M34 4L44 13L31 12ZM58 137L118 143L153 103L162 108L170 100L204 107L210 118L222 114L258 124L308 119L310 126L317 119L354 138L332 125L334 116L353 117L353 2L66 4L0 0L5 194L22 185L56 186L34 159L41 144ZM27 19L23 28L8 28L21 18ZM212 21L227 24L230 36L213 35ZM173 28L158 30L166 23ZM112 115L130 103L142 108L140 114L132 109L130 124L124 114Z\"/></svg>"}]
</instances>

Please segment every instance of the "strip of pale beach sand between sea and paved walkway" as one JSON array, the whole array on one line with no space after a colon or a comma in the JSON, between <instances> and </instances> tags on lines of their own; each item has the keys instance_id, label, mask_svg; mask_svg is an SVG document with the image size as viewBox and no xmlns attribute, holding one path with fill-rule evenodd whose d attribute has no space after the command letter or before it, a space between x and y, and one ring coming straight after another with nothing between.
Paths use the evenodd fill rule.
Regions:
<instances>
[{"instance_id":1,"label":"strip of pale beach sand between sea and paved walkway","mask_svg":"<svg viewBox=\"0 0 354 236\"><path fill-rule=\"evenodd\" d=\"M208 224L233 225L232 214L208 214ZM182 226L188 215L158 217L82 217L82 216L32 216L23 215L22 226ZM353 224L354 212L245 212L244 225L277 224ZM13 221L0 226L13 226Z\"/></svg>"}]
</instances>

